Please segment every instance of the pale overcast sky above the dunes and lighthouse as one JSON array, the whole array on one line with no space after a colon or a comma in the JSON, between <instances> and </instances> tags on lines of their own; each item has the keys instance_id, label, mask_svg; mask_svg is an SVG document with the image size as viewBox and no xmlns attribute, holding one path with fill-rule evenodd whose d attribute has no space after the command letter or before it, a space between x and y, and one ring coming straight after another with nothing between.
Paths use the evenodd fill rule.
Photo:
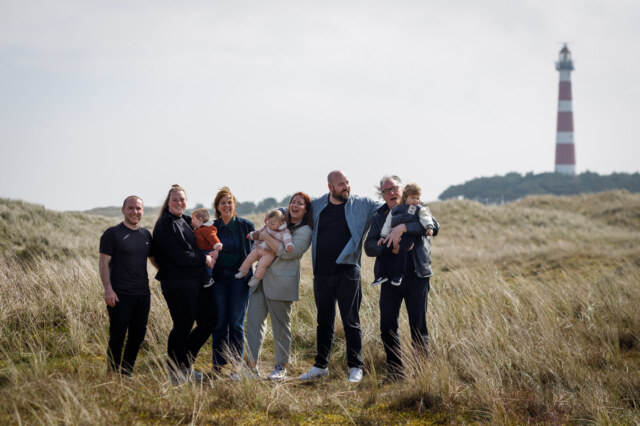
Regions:
<instances>
[{"instance_id":1,"label":"pale overcast sky above the dunes and lighthouse","mask_svg":"<svg viewBox=\"0 0 640 426\"><path fill-rule=\"evenodd\" d=\"M640 2L3 1L0 197L55 210L327 191L435 200L553 171L572 51L576 169L640 170Z\"/></svg>"}]
</instances>

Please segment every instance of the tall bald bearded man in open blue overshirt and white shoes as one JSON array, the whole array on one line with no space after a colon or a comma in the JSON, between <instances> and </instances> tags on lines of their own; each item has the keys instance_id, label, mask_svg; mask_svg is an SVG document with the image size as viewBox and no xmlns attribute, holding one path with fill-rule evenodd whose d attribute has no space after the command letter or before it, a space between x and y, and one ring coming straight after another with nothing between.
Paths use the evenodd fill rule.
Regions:
<instances>
[{"instance_id":1,"label":"tall bald bearded man in open blue overshirt and white shoes","mask_svg":"<svg viewBox=\"0 0 640 426\"><path fill-rule=\"evenodd\" d=\"M349 381L362 380L362 335L360 330L360 259L362 242L371 217L380 203L351 195L347 176L332 171L327 177L329 193L313 200L313 294L317 308L317 353L313 367L301 380L329 374L336 302L347 342ZM392 235L395 235L392 231Z\"/></svg>"}]
</instances>

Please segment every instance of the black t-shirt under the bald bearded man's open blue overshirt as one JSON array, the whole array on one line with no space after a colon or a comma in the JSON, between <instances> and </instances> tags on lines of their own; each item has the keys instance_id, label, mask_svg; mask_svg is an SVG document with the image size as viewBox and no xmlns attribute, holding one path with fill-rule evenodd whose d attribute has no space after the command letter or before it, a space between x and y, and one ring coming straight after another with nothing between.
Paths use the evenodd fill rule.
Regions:
<instances>
[{"instance_id":1,"label":"black t-shirt under the bald bearded man's open blue overshirt","mask_svg":"<svg viewBox=\"0 0 640 426\"><path fill-rule=\"evenodd\" d=\"M333 275L337 268L336 260L351 239L344 206L345 203L333 204L329 202L320 212L315 274Z\"/></svg>"}]
</instances>

